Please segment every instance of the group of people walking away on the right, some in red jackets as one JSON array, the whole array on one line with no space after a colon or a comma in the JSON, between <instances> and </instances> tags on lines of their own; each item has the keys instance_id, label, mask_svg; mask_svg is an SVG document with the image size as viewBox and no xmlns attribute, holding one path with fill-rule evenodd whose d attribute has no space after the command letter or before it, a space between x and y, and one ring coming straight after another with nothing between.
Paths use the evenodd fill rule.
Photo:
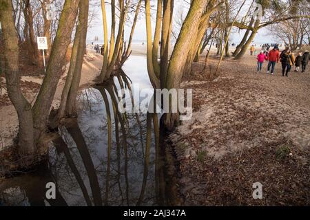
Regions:
<instances>
[{"instance_id":1,"label":"group of people walking away on the right, some in red jackets","mask_svg":"<svg viewBox=\"0 0 310 220\"><path fill-rule=\"evenodd\" d=\"M295 65L295 72L299 72L300 67L302 67L302 72L305 72L307 69L307 65L309 63L309 51L306 50L304 53L298 52L297 56L289 50L289 48L283 50L281 53L279 52L279 48L276 45L270 52L265 52L262 50L260 54L257 56L257 72L261 72L262 64L264 61L268 61L267 65L267 74L271 73L273 76L274 69L276 67L276 63L280 61L282 64L282 76L289 76L289 72L291 72L291 67Z\"/></svg>"}]
</instances>

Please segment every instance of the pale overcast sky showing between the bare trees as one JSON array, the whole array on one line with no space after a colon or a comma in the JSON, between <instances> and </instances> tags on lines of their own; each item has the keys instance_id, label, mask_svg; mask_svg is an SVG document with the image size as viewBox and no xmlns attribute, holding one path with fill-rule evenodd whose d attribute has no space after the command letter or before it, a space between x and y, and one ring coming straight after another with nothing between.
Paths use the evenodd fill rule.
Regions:
<instances>
[{"instance_id":1,"label":"pale overcast sky showing between the bare trees","mask_svg":"<svg viewBox=\"0 0 310 220\"><path fill-rule=\"evenodd\" d=\"M151 1L152 2L152 1ZM247 6L244 6L245 9ZM154 5L154 9L156 8L156 5ZM188 8L188 4L185 3L183 0L176 0L175 1L175 8L174 8L174 17L177 16L177 14L184 10L184 14L186 15ZM92 22L92 27L89 28L87 32L87 42L94 41L95 36L99 37L99 41L103 41L103 23L102 23L102 14L101 14L101 8L96 7L93 8L93 10L96 12L96 19ZM106 4L106 10L107 10L107 22L108 22L108 35L110 36L110 25L111 25L111 8L110 4ZM155 14L152 15L152 29L154 34L154 28L155 28ZM130 34L131 30L131 24L128 24L125 26L125 39L128 39L128 36ZM116 29L117 31L117 29ZM236 29L234 31L234 34L231 34L231 43L239 43L242 39L242 36L245 31ZM138 20L136 24L136 30L134 32L134 41L146 41L146 30L145 30L145 17L144 14L140 15L140 19ZM270 36L270 33L266 29L261 29L258 34L256 34L256 38L254 39L255 43L273 43L275 42L275 39Z\"/></svg>"}]
</instances>

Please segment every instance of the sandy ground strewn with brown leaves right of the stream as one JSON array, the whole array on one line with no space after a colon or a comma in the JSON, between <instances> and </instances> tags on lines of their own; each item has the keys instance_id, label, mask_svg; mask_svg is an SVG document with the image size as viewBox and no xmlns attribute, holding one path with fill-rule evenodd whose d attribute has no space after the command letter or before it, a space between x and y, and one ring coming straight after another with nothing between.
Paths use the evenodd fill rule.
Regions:
<instances>
[{"instance_id":1,"label":"sandy ground strewn with brown leaves right of the stream","mask_svg":"<svg viewBox=\"0 0 310 220\"><path fill-rule=\"evenodd\" d=\"M309 72L284 78L278 64L276 76L256 74L246 56L202 83L195 68L190 80L199 83L183 83L194 89L193 118L170 135L185 205L309 205ZM263 199L252 197L255 182Z\"/></svg>"}]
</instances>

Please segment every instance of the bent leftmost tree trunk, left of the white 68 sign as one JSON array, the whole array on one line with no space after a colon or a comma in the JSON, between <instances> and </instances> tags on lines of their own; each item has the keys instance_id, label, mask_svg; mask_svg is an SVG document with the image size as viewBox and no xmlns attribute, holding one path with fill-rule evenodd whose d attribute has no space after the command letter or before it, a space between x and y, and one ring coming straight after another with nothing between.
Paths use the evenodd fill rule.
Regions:
<instances>
[{"instance_id":1,"label":"bent leftmost tree trunk, left of the white 68 sign","mask_svg":"<svg viewBox=\"0 0 310 220\"><path fill-rule=\"evenodd\" d=\"M19 119L19 155L32 157L34 154L33 121L31 104L25 99L20 87L19 46L12 18L12 1L0 0L0 22L3 34L4 72L8 96Z\"/></svg>"}]
</instances>

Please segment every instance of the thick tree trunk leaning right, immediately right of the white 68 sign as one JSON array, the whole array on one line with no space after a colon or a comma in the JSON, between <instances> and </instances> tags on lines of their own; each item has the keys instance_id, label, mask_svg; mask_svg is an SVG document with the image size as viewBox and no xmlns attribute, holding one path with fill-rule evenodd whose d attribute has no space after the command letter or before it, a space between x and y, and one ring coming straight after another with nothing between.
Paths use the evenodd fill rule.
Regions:
<instances>
[{"instance_id":1,"label":"thick tree trunk leaning right, immediately right of the white 68 sign","mask_svg":"<svg viewBox=\"0 0 310 220\"><path fill-rule=\"evenodd\" d=\"M59 20L58 30L54 39L50 62L46 68L45 78L38 97L32 107L34 118L35 140L44 133L48 123L48 115L52 106L56 87L61 77L65 61L65 54L71 41L72 30L76 21L76 14L80 0L66 0Z\"/></svg>"}]
</instances>

